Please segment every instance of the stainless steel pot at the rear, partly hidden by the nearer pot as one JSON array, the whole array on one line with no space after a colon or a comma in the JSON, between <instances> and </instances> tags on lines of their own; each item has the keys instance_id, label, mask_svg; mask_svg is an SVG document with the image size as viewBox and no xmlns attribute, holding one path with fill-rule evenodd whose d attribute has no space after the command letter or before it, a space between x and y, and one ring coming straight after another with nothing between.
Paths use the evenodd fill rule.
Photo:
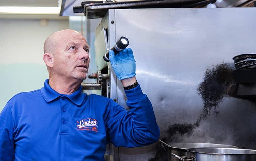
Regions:
<instances>
[{"instance_id":1,"label":"stainless steel pot at the rear, partly hidden by the nearer pot","mask_svg":"<svg viewBox=\"0 0 256 161\"><path fill-rule=\"evenodd\" d=\"M186 156L187 149L190 148L203 148L203 147L219 147L219 148L237 148L232 145L224 144L212 144L212 143L169 143L162 144L164 145L167 151L167 160L168 161L180 161L178 158L175 158L171 153L177 154L178 156Z\"/></svg>"}]
</instances>

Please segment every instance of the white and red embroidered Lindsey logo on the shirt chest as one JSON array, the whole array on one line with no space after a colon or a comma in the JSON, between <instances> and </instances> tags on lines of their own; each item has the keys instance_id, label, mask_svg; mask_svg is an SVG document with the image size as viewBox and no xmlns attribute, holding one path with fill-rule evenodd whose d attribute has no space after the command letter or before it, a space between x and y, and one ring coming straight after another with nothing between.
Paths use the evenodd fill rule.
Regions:
<instances>
[{"instance_id":1,"label":"white and red embroidered Lindsey logo on the shirt chest","mask_svg":"<svg viewBox=\"0 0 256 161\"><path fill-rule=\"evenodd\" d=\"M80 121L76 121L76 129L77 130L87 130L87 131L95 131L98 132L98 122L93 118L81 119Z\"/></svg>"}]
</instances>

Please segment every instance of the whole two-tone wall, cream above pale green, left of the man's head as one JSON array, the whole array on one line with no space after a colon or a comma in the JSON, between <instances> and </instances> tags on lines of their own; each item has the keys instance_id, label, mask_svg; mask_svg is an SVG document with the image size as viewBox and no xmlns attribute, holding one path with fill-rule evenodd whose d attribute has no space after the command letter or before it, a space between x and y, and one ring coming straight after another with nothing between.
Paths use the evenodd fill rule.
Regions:
<instances>
[{"instance_id":1,"label":"whole two-tone wall, cream above pale green, left of the man's head","mask_svg":"<svg viewBox=\"0 0 256 161\"><path fill-rule=\"evenodd\" d=\"M15 94L43 86L48 73L43 43L53 32L68 29L68 20L0 19L0 111Z\"/></svg>"}]
</instances>

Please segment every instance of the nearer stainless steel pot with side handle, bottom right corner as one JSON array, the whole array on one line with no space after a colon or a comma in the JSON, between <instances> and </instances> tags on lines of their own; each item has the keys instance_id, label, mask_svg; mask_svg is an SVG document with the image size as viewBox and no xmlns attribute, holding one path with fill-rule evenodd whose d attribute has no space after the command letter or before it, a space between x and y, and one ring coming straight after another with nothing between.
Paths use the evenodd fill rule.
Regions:
<instances>
[{"instance_id":1,"label":"nearer stainless steel pot with side handle, bottom right corner","mask_svg":"<svg viewBox=\"0 0 256 161\"><path fill-rule=\"evenodd\" d=\"M255 161L256 150L239 148L191 148L186 156L172 155L182 161Z\"/></svg>"}]
</instances>

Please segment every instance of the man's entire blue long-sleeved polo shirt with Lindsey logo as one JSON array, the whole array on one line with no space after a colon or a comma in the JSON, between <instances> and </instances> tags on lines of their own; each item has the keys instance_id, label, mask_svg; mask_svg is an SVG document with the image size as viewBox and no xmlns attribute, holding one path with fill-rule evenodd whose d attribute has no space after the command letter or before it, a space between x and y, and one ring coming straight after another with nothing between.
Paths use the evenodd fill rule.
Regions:
<instances>
[{"instance_id":1,"label":"man's entire blue long-sleeved polo shirt with Lindsey logo","mask_svg":"<svg viewBox=\"0 0 256 161\"><path fill-rule=\"evenodd\" d=\"M2 161L104 161L106 145L137 147L159 138L152 105L140 86L125 91L125 110L112 99L59 94L44 87L12 97L0 114Z\"/></svg>"}]
</instances>

